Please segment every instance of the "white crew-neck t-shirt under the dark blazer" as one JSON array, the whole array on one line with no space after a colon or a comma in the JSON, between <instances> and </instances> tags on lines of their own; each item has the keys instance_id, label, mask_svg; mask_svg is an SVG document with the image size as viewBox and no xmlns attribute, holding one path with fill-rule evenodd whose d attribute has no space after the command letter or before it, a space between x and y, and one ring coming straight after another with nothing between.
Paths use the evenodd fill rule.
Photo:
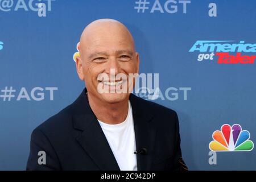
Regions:
<instances>
[{"instance_id":1,"label":"white crew-neck t-shirt under the dark blazer","mask_svg":"<svg viewBox=\"0 0 256 182\"><path fill-rule=\"evenodd\" d=\"M129 101L128 114L122 123L109 125L98 120L109 142L109 146L117 160L121 171L137 171L137 156L135 133L133 125L133 111Z\"/></svg>"}]
</instances>

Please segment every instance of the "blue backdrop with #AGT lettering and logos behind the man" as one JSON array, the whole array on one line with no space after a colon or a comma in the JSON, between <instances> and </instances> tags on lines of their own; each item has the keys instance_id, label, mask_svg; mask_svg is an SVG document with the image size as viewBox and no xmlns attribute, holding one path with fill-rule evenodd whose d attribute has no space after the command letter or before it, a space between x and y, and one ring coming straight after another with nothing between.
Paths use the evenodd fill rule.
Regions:
<instances>
[{"instance_id":1,"label":"blue backdrop with #AGT lettering and logos behind the man","mask_svg":"<svg viewBox=\"0 0 256 182\"><path fill-rule=\"evenodd\" d=\"M85 26L129 28L150 77L135 94L177 111L191 170L256 170L256 1L0 0L0 169L26 169L33 129L84 82ZM108 32L106 32L108 34Z\"/></svg>"}]
</instances>

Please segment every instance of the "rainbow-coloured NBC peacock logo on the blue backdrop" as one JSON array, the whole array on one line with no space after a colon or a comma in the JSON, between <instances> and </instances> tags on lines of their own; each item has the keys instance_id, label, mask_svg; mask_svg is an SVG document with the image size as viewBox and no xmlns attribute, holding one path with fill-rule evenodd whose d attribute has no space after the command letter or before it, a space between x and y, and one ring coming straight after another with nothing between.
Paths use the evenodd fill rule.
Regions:
<instances>
[{"instance_id":1,"label":"rainbow-coloured NBC peacock logo on the blue backdrop","mask_svg":"<svg viewBox=\"0 0 256 182\"><path fill-rule=\"evenodd\" d=\"M221 130L213 132L212 138L209 148L215 152L251 151L254 147L254 143L249 140L249 131L242 130L238 124L232 127L228 124L222 125Z\"/></svg>"}]
</instances>

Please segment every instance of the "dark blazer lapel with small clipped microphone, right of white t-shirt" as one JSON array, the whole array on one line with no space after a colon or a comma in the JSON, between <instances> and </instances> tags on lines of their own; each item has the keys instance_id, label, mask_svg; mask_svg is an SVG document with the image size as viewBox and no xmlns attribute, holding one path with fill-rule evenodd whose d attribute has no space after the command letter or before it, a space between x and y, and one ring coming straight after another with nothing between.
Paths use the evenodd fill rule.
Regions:
<instances>
[{"instance_id":1,"label":"dark blazer lapel with small clipped microphone, right of white t-shirt","mask_svg":"<svg viewBox=\"0 0 256 182\"><path fill-rule=\"evenodd\" d=\"M138 170L150 170L153 159L154 143L156 130L150 123L152 115L150 111L145 109L144 105L139 104L139 100L131 94L130 102L133 109L134 131L137 150L146 148L146 154L137 154L137 168Z\"/></svg>"}]
</instances>

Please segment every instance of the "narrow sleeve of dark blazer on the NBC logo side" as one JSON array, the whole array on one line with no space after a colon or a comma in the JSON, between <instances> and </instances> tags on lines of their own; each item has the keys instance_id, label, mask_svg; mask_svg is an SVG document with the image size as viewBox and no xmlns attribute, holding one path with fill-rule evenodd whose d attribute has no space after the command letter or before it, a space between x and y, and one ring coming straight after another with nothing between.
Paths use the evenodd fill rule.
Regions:
<instances>
[{"instance_id":1,"label":"narrow sleeve of dark blazer on the NBC logo side","mask_svg":"<svg viewBox=\"0 0 256 182\"><path fill-rule=\"evenodd\" d=\"M179 118L177 117L177 113L175 112L175 171L188 171L188 167L186 166L180 148L180 127L179 127Z\"/></svg>"}]
</instances>

